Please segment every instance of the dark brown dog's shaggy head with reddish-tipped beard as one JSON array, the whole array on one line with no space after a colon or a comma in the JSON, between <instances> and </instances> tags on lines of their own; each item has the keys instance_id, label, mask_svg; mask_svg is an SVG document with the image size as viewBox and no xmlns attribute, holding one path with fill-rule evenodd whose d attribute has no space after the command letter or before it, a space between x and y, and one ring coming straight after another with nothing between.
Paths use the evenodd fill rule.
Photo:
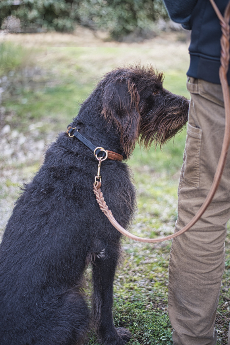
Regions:
<instances>
[{"instance_id":1,"label":"dark brown dog's shaggy head with reddish-tipped beard","mask_svg":"<svg viewBox=\"0 0 230 345\"><path fill-rule=\"evenodd\" d=\"M114 69L98 85L102 115L119 131L126 156L137 141L161 146L186 125L189 101L164 89L163 79L152 66L136 65Z\"/></svg>"}]
</instances>

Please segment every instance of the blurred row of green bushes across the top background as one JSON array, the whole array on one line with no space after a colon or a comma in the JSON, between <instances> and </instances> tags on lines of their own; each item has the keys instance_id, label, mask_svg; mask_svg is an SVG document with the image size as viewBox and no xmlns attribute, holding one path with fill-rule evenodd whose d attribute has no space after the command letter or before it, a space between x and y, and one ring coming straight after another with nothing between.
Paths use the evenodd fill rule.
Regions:
<instances>
[{"instance_id":1,"label":"blurred row of green bushes across the top background","mask_svg":"<svg viewBox=\"0 0 230 345\"><path fill-rule=\"evenodd\" d=\"M78 23L114 39L149 38L154 22L167 19L162 0L1 0L0 27L13 32L72 31ZM20 20L19 27L17 20Z\"/></svg>"}]
</instances>

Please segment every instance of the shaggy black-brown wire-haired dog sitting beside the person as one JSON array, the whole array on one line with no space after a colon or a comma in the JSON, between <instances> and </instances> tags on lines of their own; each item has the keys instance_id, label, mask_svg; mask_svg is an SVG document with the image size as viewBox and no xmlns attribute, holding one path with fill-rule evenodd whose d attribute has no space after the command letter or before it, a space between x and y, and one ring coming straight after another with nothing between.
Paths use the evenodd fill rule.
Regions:
<instances>
[{"instance_id":1,"label":"shaggy black-brown wire-haired dog sitting beside the person","mask_svg":"<svg viewBox=\"0 0 230 345\"><path fill-rule=\"evenodd\" d=\"M117 68L100 81L73 120L95 146L127 159L136 142L164 144L187 121L188 100L165 90L163 76L139 65ZM121 234L93 193L98 161L75 137L61 133L13 209L0 246L0 344L76 345L93 319L98 341L130 339L112 318L113 279ZM135 188L128 166L105 160L102 192L124 228L132 223ZM92 264L92 316L84 273Z\"/></svg>"}]
</instances>

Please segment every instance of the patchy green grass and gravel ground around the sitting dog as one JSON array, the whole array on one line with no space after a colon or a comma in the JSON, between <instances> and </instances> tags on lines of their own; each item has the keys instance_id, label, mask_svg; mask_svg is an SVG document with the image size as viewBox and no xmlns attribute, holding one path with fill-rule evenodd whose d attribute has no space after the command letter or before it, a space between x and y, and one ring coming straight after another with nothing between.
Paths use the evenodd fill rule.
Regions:
<instances>
[{"instance_id":1,"label":"patchy green grass and gravel ground around the sitting dog","mask_svg":"<svg viewBox=\"0 0 230 345\"><path fill-rule=\"evenodd\" d=\"M23 45L21 36L18 37ZM55 134L65 130L72 117L76 116L79 102L87 97L103 73L125 63L140 60L142 63L151 62L159 70L165 71L166 88L189 97L185 87L188 67L185 43L156 39L151 47L149 43L138 47L109 47L102 43L98 47L48 45L38 48L30 45L25 49L8 40L10 38L0 45L0 78L4 75L8 76L8 80L16 78L19 86L17 92L12 92L12 97L2 101L5 114L2 126L9 124L11 133L18 133L15 134L19 138L15 146L18 145L19 153L23 152L24 156L22 153L20 156L17 149L12 151L15 159L14 153L11 154L12 159L0 156L0 215L5 219L1 223L2 229L18 196L18 186L30 179L42 162L39 155L29 158L30 148L25 147L26 141L31 140L30 145L39 147L38 143L54 140ZM26 80L21 71L33 71L36 66L41 69L39 77L36 75L36 78L31 77L32 81ZM29 85L30 81L32 86ZM173 232L185 137L186 130L165 145L163 151L151 148L146 152L135 148L129 160L138 193L138 214L132 229L134 234L156 237ZM25 142L20 138L25 138ZM2 145L10 145L7 140L6 137ZM41 153L42 149L38 152ZM170 241L158 245L129 239L124 242L123 263L117 270L114 282L113 314L116 326L125 326L132 332L130 344L172 344L172 329L167 315L170 245ZM90 286L90 272L88 277ZM216 325L218 344L227 344L229 285L230 227ZM92 333L88 345L93 344L96 344L96 338Z\"/></svg>"}]
</instances>

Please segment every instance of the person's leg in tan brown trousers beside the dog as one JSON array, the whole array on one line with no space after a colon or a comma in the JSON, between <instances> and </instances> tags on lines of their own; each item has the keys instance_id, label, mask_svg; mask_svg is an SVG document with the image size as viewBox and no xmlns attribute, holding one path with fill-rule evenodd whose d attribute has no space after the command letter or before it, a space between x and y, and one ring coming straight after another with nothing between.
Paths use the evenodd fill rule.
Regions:
<instances>
[{"instance_id":1,"label":"person's leg in tan brown trousers beside the dog","mask_svg":"<svg viewBox=\"0 0 230 345\"><path fill-rule=\"evenodd\" d=\"M191 102L175 231L188 223L205 200L224 133L220 85L192 78L187 87ZM229 218L230 155L211 205L190 230L172 241L168 313L174 328L174 345L215 345L217 342L214 324Z\"/></svg>"}]
</instances>

